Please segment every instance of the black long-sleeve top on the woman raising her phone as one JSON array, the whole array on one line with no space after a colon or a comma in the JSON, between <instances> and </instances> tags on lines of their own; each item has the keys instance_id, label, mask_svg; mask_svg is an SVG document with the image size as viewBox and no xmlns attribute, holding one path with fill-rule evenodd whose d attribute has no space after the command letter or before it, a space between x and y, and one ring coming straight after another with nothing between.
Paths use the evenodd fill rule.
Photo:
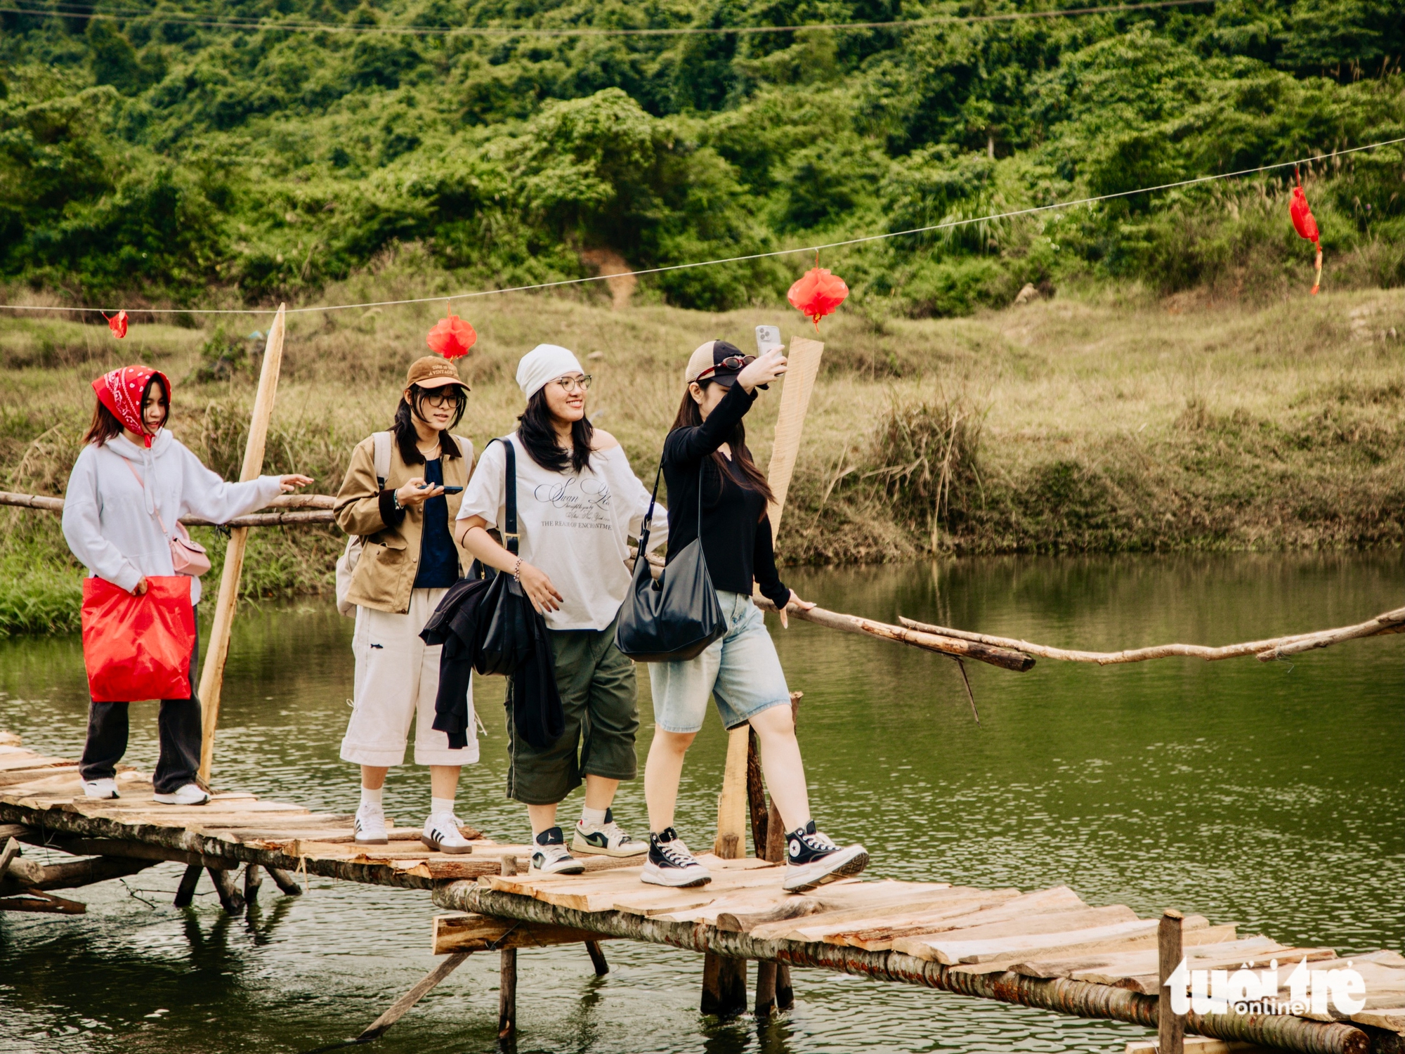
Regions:
<instances>
[{"instance_id":1,"label":"black long-sleeve top on the woman raising her phone","mask_svg":"<svg viewBox=\"0 0 1405 1054\"><path fill-rule=\"evenodd\" d=\"M667 559L698 537L698 483L702 490L702 555L714 589L752 594L752 579L777 607L790 601L790 589L776 572L771 519L766 497L724 475L710 457L732 436L756 393L732 385L717 409L697 427L674 429L663 440L663 478L669 485ZM739 451L733 450L733 457ZM725 454L724 454L725 457Z\"/></svg>"}]
</instances>

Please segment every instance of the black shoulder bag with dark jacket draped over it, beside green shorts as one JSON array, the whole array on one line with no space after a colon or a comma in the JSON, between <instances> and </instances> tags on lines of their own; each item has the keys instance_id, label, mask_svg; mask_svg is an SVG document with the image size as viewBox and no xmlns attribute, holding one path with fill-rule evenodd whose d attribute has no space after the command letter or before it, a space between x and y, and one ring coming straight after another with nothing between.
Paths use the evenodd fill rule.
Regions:
<instances>
[{"instance_id":1,"label":"black shoulder bag with dark jacket draped over it, beside green shorts","mask_svg":"<svg viewBox=\"0 0 1405 1054\"><path fill-rule=\"evenodd\" d=\"M509 438L506 523L507 551L517 555L517 458ZM468 746L468 686L472 672L514 679L513 725L535 748L551 746L566 731L566 713L556 689L556 666L547 638L547 620L503 572L488 572L478 561L468 578L450 587L420 631L429 645L443 644L440 684L434 697L434 729L448 735L452 750Z\"/></svg>"}]
</instances>

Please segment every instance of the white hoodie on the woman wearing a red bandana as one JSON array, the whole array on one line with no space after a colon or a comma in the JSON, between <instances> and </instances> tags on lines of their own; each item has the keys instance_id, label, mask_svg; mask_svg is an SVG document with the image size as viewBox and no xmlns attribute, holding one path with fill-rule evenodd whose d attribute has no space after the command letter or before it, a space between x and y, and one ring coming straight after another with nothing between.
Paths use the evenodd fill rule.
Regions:
<instances>
[{"instance_id":1,"label":"white hoodie on the woman wearing a red bandana","mask_svg":"<svg viewBox=\"0 0 1405 1054\"><path fill-rule=\"evenodd\" d=\"M63 537L93 575L132 592L146 575L176 573L169 538L181 516L226 523L263 509L281 490L278 476L226 483L166 429L150 450L117 436L90 443L73 462ZM200 601L198 578L190 599Z\"/></svg>"}]
</instances>

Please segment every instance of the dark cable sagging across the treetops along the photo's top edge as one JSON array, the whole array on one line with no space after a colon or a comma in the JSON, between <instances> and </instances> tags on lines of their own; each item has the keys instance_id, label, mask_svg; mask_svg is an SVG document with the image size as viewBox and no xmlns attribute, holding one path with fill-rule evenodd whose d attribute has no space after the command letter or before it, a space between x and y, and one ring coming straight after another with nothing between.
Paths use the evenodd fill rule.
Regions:
<instances>
[{"instance_id":1,"label":"dark cable sagging across the treetops along the photo's top edge","mask_svg":"<svg viewBox=\"0 0 1405 1054\"><path fill-rule=\"evenodd\" d=\"M178 25L198 25L216 30L260 30L268 32L372 32L409 37L726 37L802 30L830 30L858 32L864 30L916 30L929 25L1012 22L1034 18L1069 18L1078 15L1118 14L1123 11L1154 11L1170 7L1214 4L1215 0L1148 0L1146 3L1106 4L1093 7L1064 7L1047 11L1003 11L996 14L939 14L926 18L896 18L874 22L808 22L797 25L677 25L655 28L599 28L599 27L507 27L507 25L362 25L355 22L294 22L267 18L204 18L183 11L90 11L81 7L55 4L51 7L0 6L6 14L27 14L41 18L97 18L105 21L152 21Z\"/></svg>"}]
</instances>

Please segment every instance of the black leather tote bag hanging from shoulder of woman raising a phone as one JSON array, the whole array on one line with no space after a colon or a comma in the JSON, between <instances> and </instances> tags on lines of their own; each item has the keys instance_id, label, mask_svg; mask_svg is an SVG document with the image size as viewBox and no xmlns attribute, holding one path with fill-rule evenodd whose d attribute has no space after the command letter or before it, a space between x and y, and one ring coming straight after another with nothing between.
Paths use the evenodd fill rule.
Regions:
<instances>
[{"instance_id":1,"label":"black leather tote bag hanging from shoulder of woman raising a phone","mask_svg":"<svg viewBox=\"0 0 1405 1054\"><path fill-rule=\"evenodd\" d=\"M702 555L702 479L698 468L698 537L669 561L658 582L649 573L649 524L659 497L659 476L653 478L649 512L639 531L639 555L634 562L629 593L620 607L615 648L635 662L684 662L697 658L726 632L726 617L718 603L712 576Z\"/></svg>"}]
</instances>

